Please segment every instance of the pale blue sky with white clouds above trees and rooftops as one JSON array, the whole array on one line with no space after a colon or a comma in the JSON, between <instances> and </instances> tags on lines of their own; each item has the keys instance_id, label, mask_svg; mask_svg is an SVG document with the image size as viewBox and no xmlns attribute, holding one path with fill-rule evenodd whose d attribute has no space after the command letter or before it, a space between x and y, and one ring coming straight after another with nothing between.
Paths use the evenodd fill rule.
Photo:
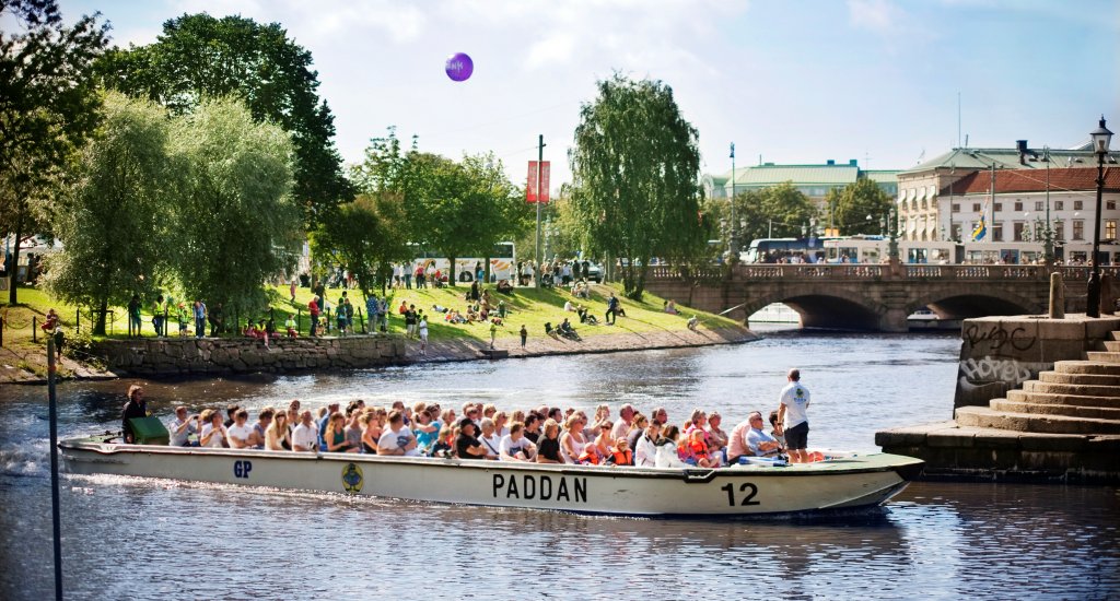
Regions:
<instances>
[{"instance_id":1,"label":"pale blue sky with white clouds above trees and rooftops","mask_svg":"<svg viewBox=\"0 0 1120 601\"><path fill-rule=\"evenodd\" d=\"M310 50L345 161L395 125L423 151L493 151L515 182L552 187L596 82L673 90L701 170L857 159L906 169L964 142L1067 148L1103 113L1120 131L1117 0L59 0L100 11L114 45L184 13L279 22ZM474 74L444 65L466 53ZM960 112L958 112L960 97ZM958 116L960 115L960 138Z\"/></svg>"}]
</instances>

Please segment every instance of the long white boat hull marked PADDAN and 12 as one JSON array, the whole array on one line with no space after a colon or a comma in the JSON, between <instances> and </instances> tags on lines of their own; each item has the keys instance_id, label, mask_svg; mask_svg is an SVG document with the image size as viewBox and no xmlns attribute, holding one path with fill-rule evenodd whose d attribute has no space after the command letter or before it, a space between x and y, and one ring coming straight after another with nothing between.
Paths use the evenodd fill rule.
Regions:
<instances>
[{"instance_id":1,"label":"long white boat hull marked PADDAN and 12","mask_svg":"<svg viewBox=\"0 0 1120 601\"><path fill-rule=\"evenodd\" d=\"M572 466L354 453L59 443L68 472L171 478L420 501L619 516L754 516L886 503L917 476L909 457L846 453L719 469Z\"/></svg>"}]
</instances>

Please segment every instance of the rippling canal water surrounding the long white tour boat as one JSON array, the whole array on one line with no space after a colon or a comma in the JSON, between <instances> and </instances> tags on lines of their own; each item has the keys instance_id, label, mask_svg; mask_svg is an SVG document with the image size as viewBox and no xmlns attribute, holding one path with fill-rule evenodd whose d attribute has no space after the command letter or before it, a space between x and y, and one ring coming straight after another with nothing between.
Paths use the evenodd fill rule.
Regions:
<instances>
[{"instance_id":1,"label":"rippling canal water surrounding the long white tour boat","mask_svg":"<svg viewBox=\"0 0 1120 601\"><path fill-rule=\"evenodd\" d=\"M773 331L706 349L150 383L169 416L230 402L776 409L790 367L810 447L951 416L959 338ZM119 429L127 382L59 387L60 435ZM0 599L53 591L44 387L0 387ZM912 485L859 517L624 519L120 477L63 479L72 599L1120 598L1116 488ZM439 486L432 482L432 486Z\"/></svg>"}]
</instances>

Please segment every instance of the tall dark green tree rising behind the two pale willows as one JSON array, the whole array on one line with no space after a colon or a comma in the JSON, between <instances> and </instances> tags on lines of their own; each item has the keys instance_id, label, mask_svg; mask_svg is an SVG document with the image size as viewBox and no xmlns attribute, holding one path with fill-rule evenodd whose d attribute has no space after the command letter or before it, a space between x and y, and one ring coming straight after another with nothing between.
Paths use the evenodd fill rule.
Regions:
<instances>
[{"instance_id":1,"label":"tall dark green tree rising behind the two pale willows","mask_svg":"<svg viewBox=\"0 0 1120 601\"><path fill-rule=\"evenodd\" d=\"M307 231L354 190L335 149L334 115L319 100L311 54L288 39L279 24L243 17L184 15L164 24L155 44L114 48L99 62L105 85L147 96L174 113L205 97L240 97L259 122L277 123L296 144L295 197Z\"/></svg>"}]
</instances>

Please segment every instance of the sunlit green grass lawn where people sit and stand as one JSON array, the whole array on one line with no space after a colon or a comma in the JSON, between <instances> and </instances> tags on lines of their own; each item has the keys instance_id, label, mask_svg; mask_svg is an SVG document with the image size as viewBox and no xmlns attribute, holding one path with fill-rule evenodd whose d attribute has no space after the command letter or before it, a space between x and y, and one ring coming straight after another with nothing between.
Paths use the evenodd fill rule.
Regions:
<instances>
[{"instance_id":1,"label":"sunlit green grass lawn where people sit and stand","mask_svg":"<svg viewBox=\"0 0 1120 601\"><path fill-rule=\"evenodd\" d=\"M390 290L389 306L391 316L389 319L389 331L391 334L403 334L404 331L404 320L396 312L398 307L403 301L409 304L416 304L417 309L422 309L428 314L429 336L433 341L440 339L489 340L488 325L447 323L444 320L444 313L432 310L432 306L438 304L465 312L467 301L464 295L468 290L469 287L466 285L444 289ZM41 290L20 288L19 304L16 306L8 306L6 302L7 291L2 292L4 301L0 302L0 314L6 320L3 331L3 344L6 347L11 348L16 345L31 344L31 319L32 317L37 318L37 321L41 323L43 317L49 308L55 308L58 311L63 326L67 331L73 331L78 319L81 320L81 329L83 331L87 331L87 328L92 326L92 319L86 308L82 308L81 317L78 318L77 307L62 303ZM227 310L225 314L226 322L232 325L234 317L236 317L243 327L246 318L267 319L271 314L276 320L277 328L282 329L284 320L291 314L300 318L299 329L306 335L310 327L307 303L311 300L311 291L306 288L296 289L295 302L290 300L287 285L274 287L270 292L274 292L274 301L271 304L270 311L252 316L234 316ZM355 309L355 331L361 331L362 326L366 322L365 299L358 290L348 290L346 292ZM563 311L564 301L572 300L575 304L582 303L587 307L591 311L591 314L599 319L601 323L606 311L606 299L610 292L614 292L622 300L622 307L626 311L626 317L618 318L615 326L580 325L579 316L575 312L566 313ZM340 289L328 289L326 292L327 301L332 308L332 317L334 317L334 308L337 307L342 293L343 290ZM692 314L697 314L701 323L707 328L724 328L738 325L735 320L702 311L693 311L681 306L678 306L680 310L679 314L665 313L662 310L662 299L646 293L642 302L632 301L623 297L620 284L595 284L591 288L591 298L587 300L575 299L571 294L559 288L551 290L517 288L513 294L497 294L492 289L491 294L495 299L495 303L497 300L504 300L510 311L505 322L498 327L498 338L516 338L522 325L529 329L531 337L543 336L544 322L550 321L553 326L557 326L564 317L568 317L572 321L577 331L582 337L604 334L681 330L685 328L688 318ZM111 310L113 311L113 319L106 323L106 328L110 331L108 338L124 338L128 332L125 310L123 307L113 307ZM174 317L170 321L168 332L174 337L178 334L178 325ZM188 331L192 327L193 325L188 325ZM330 334L334 334L334 325L332 325ZM151 325L150 307L146 306L143 312L143 336L155 335L156 332ZM38 344L43 345L41 332L37 335L37 338Z\"/></svg>"}]
</instances>

